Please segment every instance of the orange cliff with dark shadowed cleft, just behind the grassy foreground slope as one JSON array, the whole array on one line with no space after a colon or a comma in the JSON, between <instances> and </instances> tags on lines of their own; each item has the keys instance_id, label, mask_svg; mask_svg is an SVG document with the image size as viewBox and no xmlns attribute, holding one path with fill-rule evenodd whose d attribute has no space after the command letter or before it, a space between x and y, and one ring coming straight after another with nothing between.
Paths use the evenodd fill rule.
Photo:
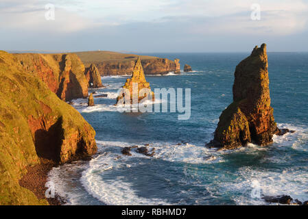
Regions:
<instances>
[{"instance_id":1,"label":"orange cliff with dark shadowed cleft, just behind the grassy foreground slope","mask_svg":"<svg viewBox=\"0 0 308 219\"><path fill-rule=\"evenodd\" d=\"M23 68L42 79L63 101L86 98L88 81L80 58L69 54L15 54Z\"/></svg>"}]
</instances>

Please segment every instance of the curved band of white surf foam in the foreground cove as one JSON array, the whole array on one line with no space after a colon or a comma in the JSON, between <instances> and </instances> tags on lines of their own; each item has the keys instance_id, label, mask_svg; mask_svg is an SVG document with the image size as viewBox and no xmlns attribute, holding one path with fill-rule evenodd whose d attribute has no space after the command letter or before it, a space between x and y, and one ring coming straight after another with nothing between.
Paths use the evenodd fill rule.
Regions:
<instances>
[{"instance_id":1,"label":"curved band of white surf foam in the foreground cove","mask_svg":"<svg viewBox=\"0 0 308 219\"><path fill-rule=\"evenodd\" d=\"M125 142L103 142L97 141L101 146L129 146ZM137 195L132 189L132 184L123 181L121 177L117 179L104 181L104 172L112 171L118 168L131 168L132 164L125 164L126 160L132 157L121 156L117 153L108 153L107 155L99 155L92 159L89 168L82 172L82 185L93 197L107 205L168 205L167 201L158 198L143 198ZM132 156L144 156L131 151ZM104 156L104 157L103 157Z\"/></svg>"}]
</instances>

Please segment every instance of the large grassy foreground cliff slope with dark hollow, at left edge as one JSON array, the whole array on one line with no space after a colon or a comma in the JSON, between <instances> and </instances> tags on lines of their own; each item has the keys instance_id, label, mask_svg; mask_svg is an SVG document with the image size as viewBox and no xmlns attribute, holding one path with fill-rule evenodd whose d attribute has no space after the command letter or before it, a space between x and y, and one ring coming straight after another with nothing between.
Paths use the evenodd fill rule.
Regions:
<instances>
[{"instance_id":1,"label":"large grassy foreground cliff slope with dark hollow, at left edge","mask_svg":"<svg viewBox=\"0 0 308 219\"><path fill-rule=\"evenodd\" d=\"M34 75L42 69L55 73L42 56L34 56L40 65L25 70L20 56L0 51L0 205L47 204L19 185L26 167L40 158L63 164L97 151L91 125L49 90L54 82Z\"/></svg>"}]
</instances>

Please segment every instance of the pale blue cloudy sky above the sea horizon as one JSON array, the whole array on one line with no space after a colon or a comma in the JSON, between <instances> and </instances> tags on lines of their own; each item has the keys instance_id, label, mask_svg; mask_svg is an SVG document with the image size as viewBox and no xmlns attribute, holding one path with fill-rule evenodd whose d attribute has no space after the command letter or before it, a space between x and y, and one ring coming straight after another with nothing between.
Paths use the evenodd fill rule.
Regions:
<instances>
[{"instance_id":1,"label":"pale blue cloudy sky above the sea horizon","mask_svg":"<svg viewBox=\"0 0 308 219\"><path fill-rule=\"evenodd\" d=\"M308 51L307 21L308 0L0 0L0 49Z\"/></svg>"}]
</instances>

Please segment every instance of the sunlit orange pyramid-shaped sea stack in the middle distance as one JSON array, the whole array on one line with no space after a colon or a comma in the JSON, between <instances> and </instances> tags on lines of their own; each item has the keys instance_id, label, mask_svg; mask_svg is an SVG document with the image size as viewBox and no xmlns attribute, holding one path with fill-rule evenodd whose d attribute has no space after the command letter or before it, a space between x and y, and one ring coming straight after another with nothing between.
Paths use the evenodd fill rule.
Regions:
<instances>
[{"instance_id":1,"label":"sunlit orange pyramid-shaped sea stack in the middle distance","mask_svg":"<svg viewBox=\"0 0 308 219\"><path fill-rule=\"evenodd\" d=\"M130 99L130 103L133 103L133 86L134 86L134 95L138 95L136 96L136 99L138 100L138 103L145 99L147 96L150 98L150 96L152 96L152 100L154 100L154 92L151 91L150 88L150 83L148 83L145 80L145 75L143 72L143 67L141 64L141 60L138 57L135 65L134 65L134 70L132 71L132 78L127 79L126 83L124 84L123 88L129 90L130 92L130 97L126 97L125 99ZM138 86L138 90L137 90L137 86ZM146 88L148 89L149 92L145 93L142 96L139 96L139 92L141 89ZM125 97L125 93L120 94L117 97L117 103L116 105L121 101L123 102L123 97Z\"/></svg>"}]
</instances>

